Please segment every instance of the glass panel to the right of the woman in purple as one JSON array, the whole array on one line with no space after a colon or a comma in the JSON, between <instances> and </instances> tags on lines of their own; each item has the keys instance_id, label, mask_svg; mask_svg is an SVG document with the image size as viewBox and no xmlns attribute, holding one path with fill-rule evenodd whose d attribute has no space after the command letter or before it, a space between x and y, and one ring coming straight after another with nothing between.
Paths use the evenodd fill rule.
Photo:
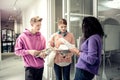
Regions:
<instances>
[{"instance_id":1,"label":"glass panel to the right of the woman in purple","mask_svg":"<svg viewBox=\"0 0 120 80\"><path fill-rule=\"evenodd\" d=\"M103 25L103 66L101 80L120 80L120 0L98 0L98 16ZM107 58L109 56L109 59ZM111 65L109 64L111 63ZM103 68L103 70L102 70Z\"/></svg>"}]
</instances>

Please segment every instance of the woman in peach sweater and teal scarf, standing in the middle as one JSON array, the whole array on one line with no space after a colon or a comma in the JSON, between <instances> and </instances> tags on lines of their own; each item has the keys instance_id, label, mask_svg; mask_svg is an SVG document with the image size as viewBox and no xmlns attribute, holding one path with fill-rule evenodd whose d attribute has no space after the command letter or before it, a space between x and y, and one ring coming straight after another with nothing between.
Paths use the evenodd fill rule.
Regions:
<instances>
[{"instance_id":1,"label":"woman in peach sweater and teal scarf, standing in the middle","mask_svg":"<svg viewBox=\"0 0 120 80\"><path fill-rule=\"evenodd\" d=\"M61 41L61 38L74 45L74 36L67 31L67 21L65 19L60 19L58 21L58 29L59 30L52 35L52 38L49 41L50 46L57 49L54 59L56 80L62 80L62 76L63 80L70 80L70 66L73 54Z\"/></svg>"}]
</instances>

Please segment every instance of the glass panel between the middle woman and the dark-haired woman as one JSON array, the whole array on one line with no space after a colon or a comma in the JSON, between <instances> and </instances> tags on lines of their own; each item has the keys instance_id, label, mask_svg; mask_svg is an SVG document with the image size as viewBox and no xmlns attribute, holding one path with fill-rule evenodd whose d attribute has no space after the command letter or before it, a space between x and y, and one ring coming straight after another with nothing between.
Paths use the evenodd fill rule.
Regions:
<instances>
[{"instance_id":1,"label":"glass panel between the middle woman and the dark-haired woman","mask_svg":"<svg viewBox=\"0 0 120 80\"><path fill-rule=\"evenodd\" d=\"M68 30L73 33L78 46L79 38L82 36L82 20L86 16L93 16L93 0L63 0L66 6L63 10L64 18L68 21ZM70 4L70 5L69 5ZM69 7L68 7L69 6ZM68 12L67 12L68 11ZM74 56L74 65L77 57ZM74 68L75 71L75 68Z\"/></svg>"}]
</instances>

